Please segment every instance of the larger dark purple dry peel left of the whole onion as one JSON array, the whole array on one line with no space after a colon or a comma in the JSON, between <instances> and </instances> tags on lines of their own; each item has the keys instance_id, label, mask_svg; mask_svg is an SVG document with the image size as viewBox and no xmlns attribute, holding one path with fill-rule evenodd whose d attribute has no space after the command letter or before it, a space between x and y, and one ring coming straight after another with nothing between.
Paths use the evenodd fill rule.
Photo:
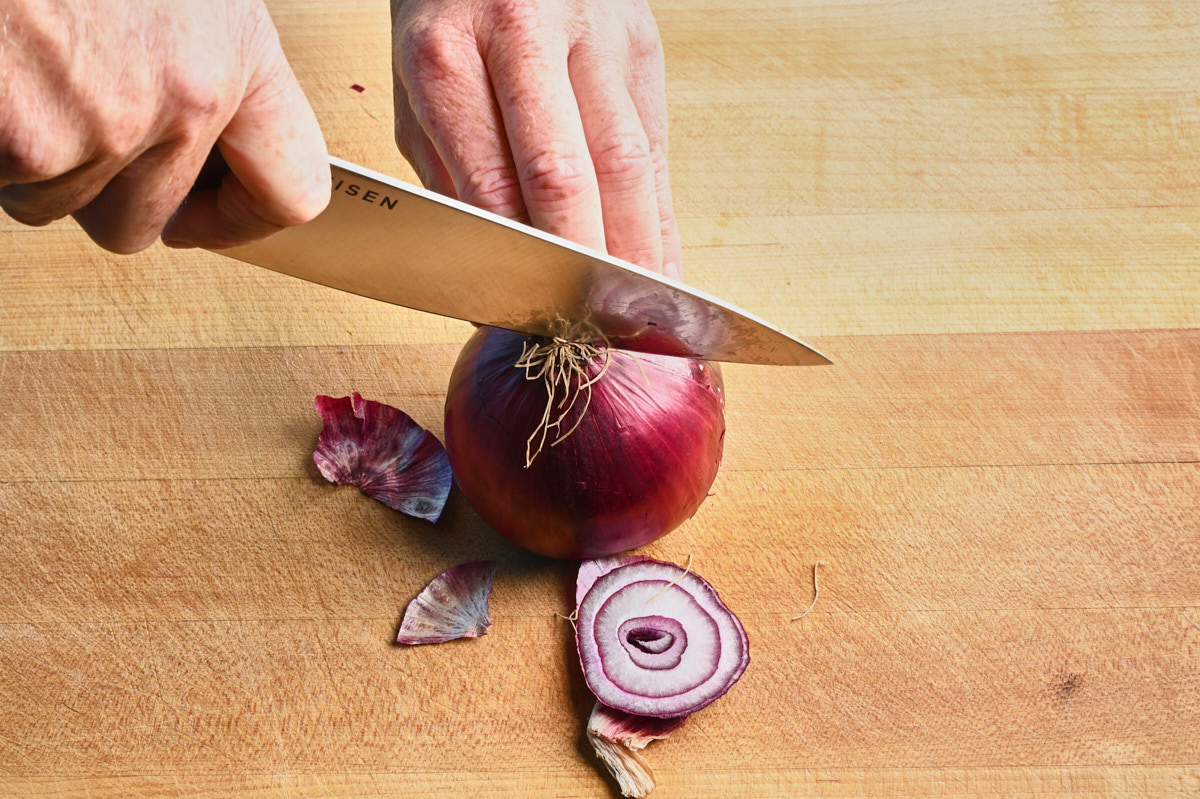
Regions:
<instances>
[{"instance_id":1,"label":"larger dark purple dry peel left of the whole onion","mask_svg":"<svg viewBox=\"0 0 1200 799\"><path fill-rule=\"evenodd\" d=\"M438 521L450 495L450 461L433 433L382 402L318 396L324 421L312 459L326 480L409 516Z\"/></svg>"}]
</instances>

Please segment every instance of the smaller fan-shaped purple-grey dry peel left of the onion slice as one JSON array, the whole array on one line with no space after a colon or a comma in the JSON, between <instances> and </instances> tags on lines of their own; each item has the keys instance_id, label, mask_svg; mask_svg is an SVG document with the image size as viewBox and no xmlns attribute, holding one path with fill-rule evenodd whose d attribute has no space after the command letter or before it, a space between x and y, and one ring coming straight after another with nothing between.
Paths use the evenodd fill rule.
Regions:
<instances>
[{"instance_id":1,"label":"smaller fan-shaped purple-grey dry peel left of the onion slice","mask_svg":"<svg viewBox=\"0 0 1200 799\"><path fill-rule=\"evenodd\" d=\"M492 625L487 597L494 578L496 564L491 560L464 563L442 572L408 603L396 643L445 643L486 636Z\"/></svg>"}]
</instances>

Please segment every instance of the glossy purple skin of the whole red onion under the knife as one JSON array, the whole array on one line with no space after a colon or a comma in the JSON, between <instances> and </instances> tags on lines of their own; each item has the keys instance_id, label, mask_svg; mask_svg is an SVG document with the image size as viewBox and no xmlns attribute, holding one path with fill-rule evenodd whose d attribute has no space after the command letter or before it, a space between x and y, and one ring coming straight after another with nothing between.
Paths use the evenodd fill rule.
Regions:
<instances>
[{"instance_id":1,"label":"glossy purple skin of the whole red onion under the knife","mask_svg":"<svg viewBox=\"0 0 1200 799\"><path fill-rule=\"evenodd\" d=\"M546 408L545 385L514 366L529 341L480 328L450 377L446 453L475 512L509 541L552 558L626 552L690 518L721 463L719 370L613 353L580 426L556 446L547 441L526 468L526 439ZM593 362L589 372L600 368Z\"/></svg>"}]
</instances>

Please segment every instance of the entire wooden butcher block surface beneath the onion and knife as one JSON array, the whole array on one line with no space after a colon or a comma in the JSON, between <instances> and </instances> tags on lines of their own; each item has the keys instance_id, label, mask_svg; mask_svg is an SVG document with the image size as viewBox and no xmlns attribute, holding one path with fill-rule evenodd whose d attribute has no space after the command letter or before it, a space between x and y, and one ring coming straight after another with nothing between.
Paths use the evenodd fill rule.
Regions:
<instances>
[{"instance_id":1,"label":"entire wooden butcher block surface beneath the onion and knife","mask_svg":"<svg viewBox=\"0 0 1200 799\"><path fill-rule=\"evenodd\" d=\"M415 180L386 5L270 2L330 152ZM1200 794L1200 6L652 7L685 278L834 362L727 365L644 548L751 653L652 795ZM312 463L319 394L440 437L469 332L0 221L0 794L618 795L575 564ZM394 645L476 559L490 633Z\"/></svg>"}]
</instances>

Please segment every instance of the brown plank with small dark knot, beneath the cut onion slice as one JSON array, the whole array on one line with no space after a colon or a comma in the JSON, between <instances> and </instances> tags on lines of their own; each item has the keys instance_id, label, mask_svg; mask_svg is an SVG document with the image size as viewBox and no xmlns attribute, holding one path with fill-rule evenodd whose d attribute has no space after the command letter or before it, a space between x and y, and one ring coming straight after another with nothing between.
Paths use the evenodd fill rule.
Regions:
<instances>
[{"instance_id":1,"label":"brown plank with small dark knot, beneath the cut onion slice","mask_svg":"<svg viewBox=\"0 0 1200 799\"><path fill-rule=\"evenodd\" d=\"M746 614L752 662L649 750L667 773L1194 763L1196 611ZM560 619L396 649L390 621L0 625L26 777L572 774L589 701ZM486 663L486 666L481 666ZM715 795L713 792L706 792Z\"/></svg>"}]
</instances>

